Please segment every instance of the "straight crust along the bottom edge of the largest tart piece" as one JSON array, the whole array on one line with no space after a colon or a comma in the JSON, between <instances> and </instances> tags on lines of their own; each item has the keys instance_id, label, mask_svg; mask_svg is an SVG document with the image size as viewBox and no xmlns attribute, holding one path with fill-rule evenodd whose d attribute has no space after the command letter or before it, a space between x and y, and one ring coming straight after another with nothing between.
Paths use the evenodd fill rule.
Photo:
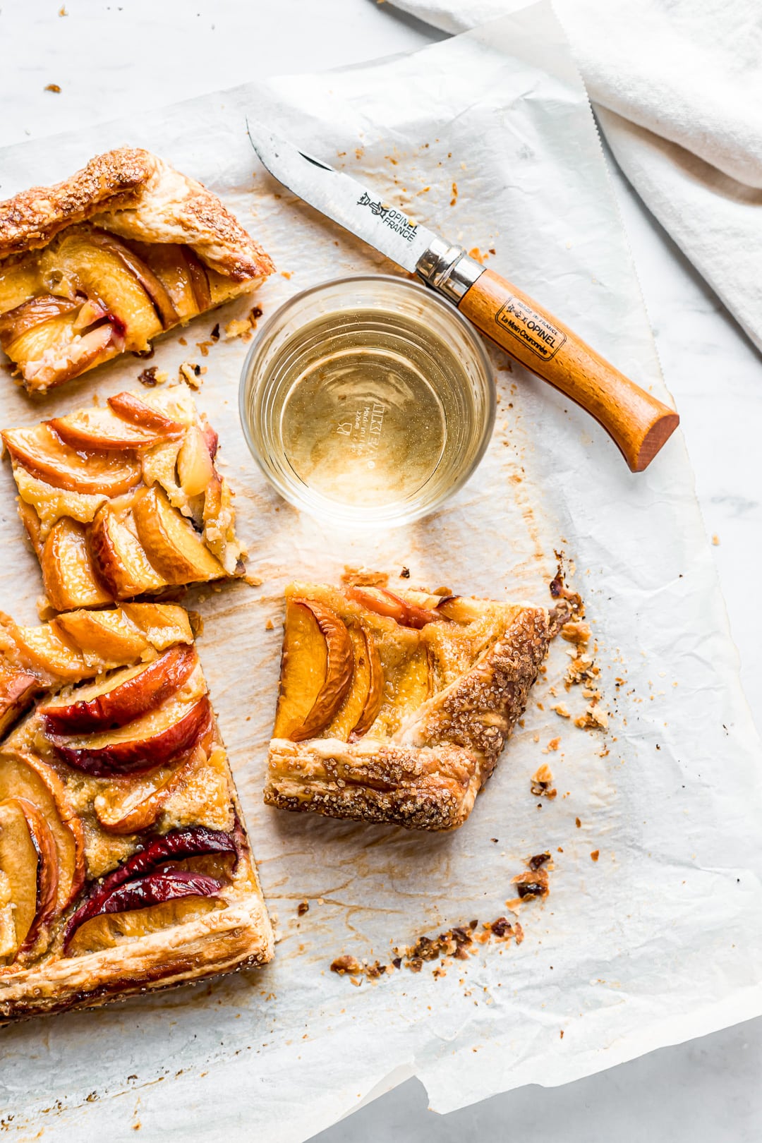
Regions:
<instances>
[{"instance_id":1,"label":"straight crust along the bottom edge of the largest tart piece","mask_svg":"<svg viewBox=\"0 0 762 1143\"><path fill-rule=\"evenodd\" d=\"M191 984L272 957L264 901L251 893L224 910L114 949L0 976L0 1023Z\"/></svg>"}]
</instances>

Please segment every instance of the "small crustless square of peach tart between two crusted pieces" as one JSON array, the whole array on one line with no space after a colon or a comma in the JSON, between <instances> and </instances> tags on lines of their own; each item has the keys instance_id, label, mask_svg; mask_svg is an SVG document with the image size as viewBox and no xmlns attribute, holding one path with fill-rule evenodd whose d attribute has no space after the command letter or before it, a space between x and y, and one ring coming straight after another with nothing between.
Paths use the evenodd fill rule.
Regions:
<instances>
[{"instance_id":1,"label":"small crustless square of peach tart between two crusted pieces","mask_svg":"<svg viewBox=\"0 0 762 1143\"><path fill-rule=\"evenodd\" d=\"M217 434L184 385L118 393L2 440L55 610L242 570Z\"/></svg>"}]
</instances>

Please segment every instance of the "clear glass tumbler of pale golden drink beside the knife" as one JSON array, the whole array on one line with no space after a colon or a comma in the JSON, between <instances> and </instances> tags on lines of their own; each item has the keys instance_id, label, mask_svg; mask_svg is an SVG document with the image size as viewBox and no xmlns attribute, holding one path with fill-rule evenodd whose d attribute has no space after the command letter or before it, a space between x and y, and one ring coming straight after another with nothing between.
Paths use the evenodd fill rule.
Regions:
<instances>
[{"instance_id":1,"label":"clear glass tumbler of pale golden drink beside the knife","mask_svg":"<svg viewBox=\"0 0 762 1143\"><path fill-rule=\"evenodd\" d=\"M343 278L262 327L239 408L252 456L312 515L370 528L435 511L468 479L495 423L479 335L406 278Z\"/></svg>"}]
</instances>

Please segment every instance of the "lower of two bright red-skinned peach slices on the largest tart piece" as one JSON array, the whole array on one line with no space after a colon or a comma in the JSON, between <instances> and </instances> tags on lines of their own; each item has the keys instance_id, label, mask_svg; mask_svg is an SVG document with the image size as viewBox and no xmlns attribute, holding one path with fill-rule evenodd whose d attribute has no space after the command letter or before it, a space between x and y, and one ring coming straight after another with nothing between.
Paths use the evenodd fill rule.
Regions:
<instances>
[{"instance_id":1,"label":"lower of two bright red-skinned peach slices on the largest tart piece","mask_svg":"<svg viewBox=\"0 0 762 1143\"><path fill-rule=\"evenodd\" d=\"M138 774L177 758L192 750L212 724L211 704L202 695L193 703L169 700L118 730L81 737L50 735L50 741L69 766L96 777L109 777Z\"/></svg>"}]
</instances>

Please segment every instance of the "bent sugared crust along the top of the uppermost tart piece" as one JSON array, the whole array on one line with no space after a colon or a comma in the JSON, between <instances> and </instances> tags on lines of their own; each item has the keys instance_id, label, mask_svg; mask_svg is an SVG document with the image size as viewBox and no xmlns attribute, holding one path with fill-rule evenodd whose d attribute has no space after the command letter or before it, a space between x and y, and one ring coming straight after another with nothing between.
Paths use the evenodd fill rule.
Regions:
<instances>
[{"instance_id":1,"label":"bent sugared crust along the top of the uppermost tart piece","mask_svg":"<svg viewBox=\"0 0 762 1143\"><path fill-rule=\"evenodd\" d=\"M185 242L235 281L274 269L215 194L139 147L106 151L61 183L0 203L0 259L47 246L87 219L128 239Z\"/></svg>"}]
</instances>

